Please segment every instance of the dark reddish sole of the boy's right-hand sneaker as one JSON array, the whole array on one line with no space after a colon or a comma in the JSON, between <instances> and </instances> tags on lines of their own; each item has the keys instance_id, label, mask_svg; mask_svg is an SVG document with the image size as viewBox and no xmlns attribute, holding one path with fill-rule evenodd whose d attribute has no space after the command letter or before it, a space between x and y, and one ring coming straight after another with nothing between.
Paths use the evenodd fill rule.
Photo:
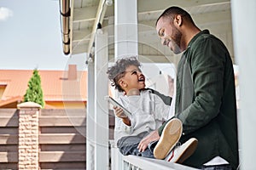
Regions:
<instances>
[{"instance_id":1,"label":"dark reddish sole of the boy's right-hand sneaker","mask_svg":"<svg viewBox=\"0 0 256 170\"><path fill-rule=\"evenodd\" d=\"M195 152L198 140L193 138L193 139L189 139L188 142L189 142L188 146L183 150L181 155L177 157L177 160L174 161L175 163L183 163L183 161L188 159L189 156L191 156Z\"/></svg>"}]
</instances>

